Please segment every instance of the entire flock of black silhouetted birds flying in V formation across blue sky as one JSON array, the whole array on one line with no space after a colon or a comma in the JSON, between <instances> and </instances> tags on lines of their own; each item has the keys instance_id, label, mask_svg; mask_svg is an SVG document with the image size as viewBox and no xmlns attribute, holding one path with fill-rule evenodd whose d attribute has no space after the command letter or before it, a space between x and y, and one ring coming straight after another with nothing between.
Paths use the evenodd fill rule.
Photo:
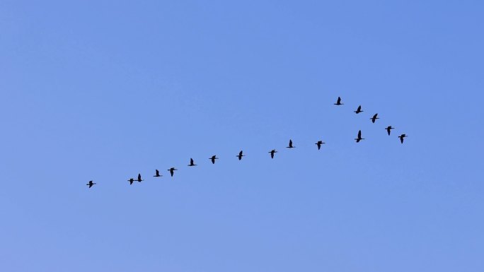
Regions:
<instances>
[{"instance_id":1,"label":"entire flock of black silhouetted birds flying in V formation across blue sky","mask_svg":"<svg viewBox=\"0 0 484 272\"><path fill-rule=\"evenodd\" d=\"M337 106L344 105L344 104L341 102L341 97L338 97L338 100L336 100L336 102L335 102L335 104L334 104L334 105L337 105ZM359 114L359 113L362 113L362 112L363 112L363 110L362 110L362 106L361 106L361 105L359 105L359 106L358 106L358 108L357 108L357 110L355 110L355 113L356 113L356 114ZM375 122L376 122L376 119L379 119L379 117L378 117L378 113L374 114L374 115L373 115L373 117L371 117L370 119L371 119L371 122L372 122L372 123L375 123ZM386 129L386 132L388 133L388 136L390 136L390 134L391 134L391 130L392 130L392 129L395 129L395 128L394 128L393 126L387 126L385 129ZM407 136L406 134L401 134L400 136L398 136L398 138L400 138L400 142L401 142L401 143L403 143L403 139L404 139L405 137L408 137L408 136ZM358 131L358 134L357 134L357 138L355 138L355 141L356 141L357 143L359 143L359 141L362 141L362 140L364 140L364 138L362 138L362 131L361 131L361 130L359 130L359 131ZM323 141L321 141L321 140L320 140L320 141L317 141L317 142L316 142L316 143L314 143L314 144L316 144L316 146L318 147L318 150L320 150L320 149L321 149L321 146L322 146L324 143L325 143L325 142L323 142ZM288 146L286 146L286 148L296 148L296 147L293 145L293 143L292 143L292 140L291 140L291 139L289 139L289 145L288 145ZM274 158L275 153L277 153L277 150L272 149L272 150L270 150L268 153L270 153L270 158L272 158L272 159L273 159L273 158ZM238 158L238 160L242 160L242 157L244 157L244 156L245 156L245 155L243 155L243 150L241 150L241 151L238 153L238 155L236 155L236 157ZM219 159L219 158L217 158L217 155L212 155L212 157L210 157L210 158L209 158L209 160L211 160L211 161L212 161L212 164L215 164L215 160L218 160L218 159ZM195 165L195 161L194 161L192 158L190 158L190 164L189 164L188 166L192 167L192 166L197 166L197 165ZM173 175L175 174L175 171L176 171L176 170L178 170L178 169L176 169L175 167L171 167L170 169L168 169L168 172L170 172L171 177L173 177ZM156 172L155 172L155 175L154 175L153 177L163 177L163 175L160 175L159 170L157 170L157 169L156 169L155 171L156 171ZM130 178L130 179L127 179L127 181L129 182L129 184L133 184L134 182L142 182L142 181L144 181L144 179L142 179L141 174L138 174L138 178L137 178L137 179ZM93 182L92 180L90 180L90 181L88 182L88 184L86 184L86 185L88 186L88 188L91 188L91 187L93 187L93 185L95 185L95 184L96 184L96 182Z\"/></svg>"}]
</instances>

